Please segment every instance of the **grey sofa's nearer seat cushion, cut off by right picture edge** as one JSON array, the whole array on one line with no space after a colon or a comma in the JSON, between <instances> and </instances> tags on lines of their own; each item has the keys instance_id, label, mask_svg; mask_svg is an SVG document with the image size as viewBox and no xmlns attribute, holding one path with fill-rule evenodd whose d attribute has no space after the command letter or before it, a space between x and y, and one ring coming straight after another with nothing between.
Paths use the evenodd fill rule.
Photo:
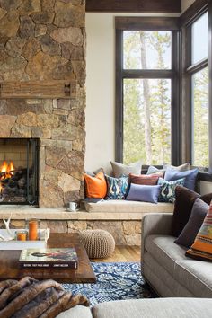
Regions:
<instances>
[{"instance_id":1,"label":"grey sofa's nearer seat cushion, cut off by right picture edge","mask_svg":"<svg viewBox=\"0 0 212 318\"><path fill-rule=\"evenodd\" d=\"M174 278L194 296L212 297L212 265L207 261L178 261ZM212 308L212 307L211 307Z\"/></svg>"}]
</instances>

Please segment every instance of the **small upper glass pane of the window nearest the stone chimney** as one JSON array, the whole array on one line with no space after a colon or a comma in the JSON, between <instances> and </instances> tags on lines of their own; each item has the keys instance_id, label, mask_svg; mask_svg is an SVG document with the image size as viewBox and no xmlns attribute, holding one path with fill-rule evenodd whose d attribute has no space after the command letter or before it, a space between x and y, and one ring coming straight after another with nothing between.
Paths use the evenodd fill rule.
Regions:
<instances>
[{"instance_id":1,"label":"small upper glass pane of the window nearest the stone chimney","mask_svg":"<svg viewBox=\"0 0 212 318\"><path fill-rule=\"evenodd\" d=\"M171 69L171 31L124 31L125 69Z\"/></svg>"}]
</instances>

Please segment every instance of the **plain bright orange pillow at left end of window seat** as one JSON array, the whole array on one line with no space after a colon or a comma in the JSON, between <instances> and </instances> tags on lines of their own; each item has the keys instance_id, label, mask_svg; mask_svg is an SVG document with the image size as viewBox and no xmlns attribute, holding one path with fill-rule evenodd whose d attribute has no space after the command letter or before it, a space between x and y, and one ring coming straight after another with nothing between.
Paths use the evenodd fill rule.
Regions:
<instances>
[{"instance_id":1,"label":"plain bright orange pillow at left end of window seat","mask_svg":"<svg viewBox=\"0 0 212 318\"><path fill-rule=\"evenodd\" d=\"M103 172L98 172L94 177L84 173L85 193L87 198L104 198L107 194L107 182Z\"/></svg>"}]
</instances>

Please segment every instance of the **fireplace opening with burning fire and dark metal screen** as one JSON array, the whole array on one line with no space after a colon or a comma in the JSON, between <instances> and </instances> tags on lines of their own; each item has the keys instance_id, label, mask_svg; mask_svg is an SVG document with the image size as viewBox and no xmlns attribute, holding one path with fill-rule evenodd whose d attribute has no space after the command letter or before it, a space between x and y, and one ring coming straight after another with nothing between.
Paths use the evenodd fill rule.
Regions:
<instances>
[{"instance_id":1,"label":"fireplace opening with burning fire and dark metal screen","mask_svg":"<svg viewBox=\"0 0 212 318\"><path fill-rule=\"evenodd\" d=\"M37 205L38 138L0 138L0 204Z\"/></svg>"}]
</instances>

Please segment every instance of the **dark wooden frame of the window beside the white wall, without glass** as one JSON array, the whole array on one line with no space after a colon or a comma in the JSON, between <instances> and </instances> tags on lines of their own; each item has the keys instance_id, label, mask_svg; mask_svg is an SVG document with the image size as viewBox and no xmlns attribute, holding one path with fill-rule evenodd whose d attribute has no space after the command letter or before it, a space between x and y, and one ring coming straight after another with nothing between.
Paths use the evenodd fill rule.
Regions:
<instances>
[{"instance_id":1,"label":"dark wooden frame of the window beside the white wall, without glass","mask_svg":"<svg viewBox=\"0 0 212 318\"><path fill-rule=\"evenodd\" d=\"M115 159L123 162L123 80L125 78L171 79L171 157L172 164L181 161L180 108L179 108L179 45L180 27L178 18L116 17L116 114L115 114ZM169 70L128 70L123 68L123 31L172 31L172 68ZM177 147L176 147L177 145Z\"/></svg>"}]
</instances>

